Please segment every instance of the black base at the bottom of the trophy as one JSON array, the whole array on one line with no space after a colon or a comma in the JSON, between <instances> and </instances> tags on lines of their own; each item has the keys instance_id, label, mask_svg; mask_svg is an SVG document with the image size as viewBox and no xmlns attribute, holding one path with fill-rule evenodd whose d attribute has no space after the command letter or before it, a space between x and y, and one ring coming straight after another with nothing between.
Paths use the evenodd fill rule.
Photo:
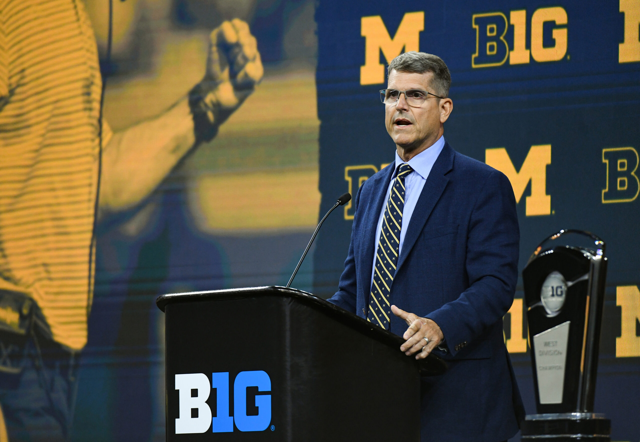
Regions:
<instances>
[{"instance_id":1,"label":"black base at the bottom of the trophy","mask_svg":"<svg viewBox=\"0 0 640 442\"><path fill-rule=\"evenodd\" d=\"M598 413L527 414L522 441L611 442L611 420Z\"/></svg>"}]
</instances>

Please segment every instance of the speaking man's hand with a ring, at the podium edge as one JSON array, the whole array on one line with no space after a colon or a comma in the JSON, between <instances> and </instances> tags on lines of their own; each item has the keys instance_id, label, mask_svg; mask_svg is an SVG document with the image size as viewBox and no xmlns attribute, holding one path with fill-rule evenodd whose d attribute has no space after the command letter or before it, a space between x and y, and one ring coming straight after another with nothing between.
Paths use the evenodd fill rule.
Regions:
<instances>
[{"instance_id":1,"label":"speaking man's hand with a ring, at the podium edge","mask_svg":"<svg viewBox=\"0 0 640 442\"><path fill-rule=\"evenodd\" d=\"M409 326L403 335L406 342L400 347L400 350L407 355L418 353L415 355L415 358L424 359L429 356L429 353L435 349L436 345L444 339L442 330L440 330L438 324L433 322L433 320L420 318L394 305L391 306L391 311L394 312L394 315L397 317L404 319ZM427 338L428 341L424 338Z\"/></svg>"}]
</instances>

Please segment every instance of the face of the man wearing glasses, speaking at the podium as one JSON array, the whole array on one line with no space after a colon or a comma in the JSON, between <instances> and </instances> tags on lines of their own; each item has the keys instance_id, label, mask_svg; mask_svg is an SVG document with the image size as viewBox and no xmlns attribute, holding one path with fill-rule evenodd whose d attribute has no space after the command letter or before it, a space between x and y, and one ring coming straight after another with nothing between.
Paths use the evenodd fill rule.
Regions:
<instances>
[{"instance_id":1,"label":"face of the man wearing glasses, speaking at the podium","mask_svg":"<svg viewBox=\"0 0 640 442\"><path fill-rule=\"evenodd\" d=\"M392 70L389 74L387 88L399 91L419 89L436 93L431 88L432 77L431 72L415 74ZM396 145L405 150L419 148L429 139L431 139L431 143L438 139L436 137L440 132L440 106L438 104L440 100L433 95L427 97L419 107L414 107L407 104L403 93L396 104L385 105L387 132Z\"/></svg>"}]
</instances>

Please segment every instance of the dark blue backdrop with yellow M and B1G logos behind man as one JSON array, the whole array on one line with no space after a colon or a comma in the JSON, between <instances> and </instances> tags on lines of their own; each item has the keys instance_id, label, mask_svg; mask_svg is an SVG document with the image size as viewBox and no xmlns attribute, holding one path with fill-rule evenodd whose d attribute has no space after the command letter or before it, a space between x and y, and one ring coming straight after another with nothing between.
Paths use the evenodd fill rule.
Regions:
<instances>
[{"instance_id":1,"label":"dark blue backdrop with yellow M and B1G logos behind man","mask_svg":"<svg viewBox=\"0 0 640 442\"><path fill-rule=\"evenodd\" d=\"M595 407L612 418L613 440L638 440L640 1L321 0L316 22L320 212L394 161L378 98L388 62L404 51L440 56L454 103L444 136L511 181L520 271L562 228L606 242ZM337 288L353 210L346 205L319 233L316 294ZM520 278L504 331L527 413L535 413L522 295Z\"/></svg>"}]
</instances>

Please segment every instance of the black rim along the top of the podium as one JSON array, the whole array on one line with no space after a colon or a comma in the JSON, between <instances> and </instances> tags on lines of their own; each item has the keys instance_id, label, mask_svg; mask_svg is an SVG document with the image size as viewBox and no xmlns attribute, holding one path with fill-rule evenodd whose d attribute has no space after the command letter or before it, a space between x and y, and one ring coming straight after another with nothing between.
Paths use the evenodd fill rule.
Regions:
<instances>
[{"instance_id":1,"label":"black rim along the top of the podium","mask_svg":"<svg viewBox=\"0 0 640 442\"><path fill-rule=\"evenodd\" d=\"M371 338L396 347L399 351L400 345L404 342L403 338L394 335L388 330L374 326L371 322L348 312L325 299L321 299L308 292L297 290L296 288L280 287L277 285L264 287L246 287L246 288L229 288L226 290L206 290L204 292L184 292L164 294L156 299L156 305L164 312L168 304L172 303L188 303L194 301L206 301L207 299L242 299L253 296L280 296L296 299L303 304L322 310L327 315L334 317L351 328L358 329L371 336ZM429 354L427 358L417 361L422 375L440 375L447 370L447 364L444 359L435 354Z\"/></svg>"}]
</instances>

